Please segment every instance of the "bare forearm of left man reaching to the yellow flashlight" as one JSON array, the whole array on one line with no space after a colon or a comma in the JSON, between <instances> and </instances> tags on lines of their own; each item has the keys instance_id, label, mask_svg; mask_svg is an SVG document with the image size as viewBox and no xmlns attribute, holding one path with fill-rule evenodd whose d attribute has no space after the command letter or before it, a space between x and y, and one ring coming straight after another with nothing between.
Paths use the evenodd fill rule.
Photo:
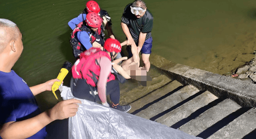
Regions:
<instances>
[{"instance_id":1,"label":"bare forearm of left man reaching to the yellow flashlight","mask_svg":"<svg viewBox=\"0 0 256 139\"><path fill-rule=\"evenodd\" d=\"M58 79L52 79L50 81L47 81L43 84L39 84L39 85L35 85L32 87L29 87L29 89L32 91L33 95L37 95L42 93L43 91L51 91L52 89L52 85L55 81L60 81Z\"/></svg>"}]
</instances>

